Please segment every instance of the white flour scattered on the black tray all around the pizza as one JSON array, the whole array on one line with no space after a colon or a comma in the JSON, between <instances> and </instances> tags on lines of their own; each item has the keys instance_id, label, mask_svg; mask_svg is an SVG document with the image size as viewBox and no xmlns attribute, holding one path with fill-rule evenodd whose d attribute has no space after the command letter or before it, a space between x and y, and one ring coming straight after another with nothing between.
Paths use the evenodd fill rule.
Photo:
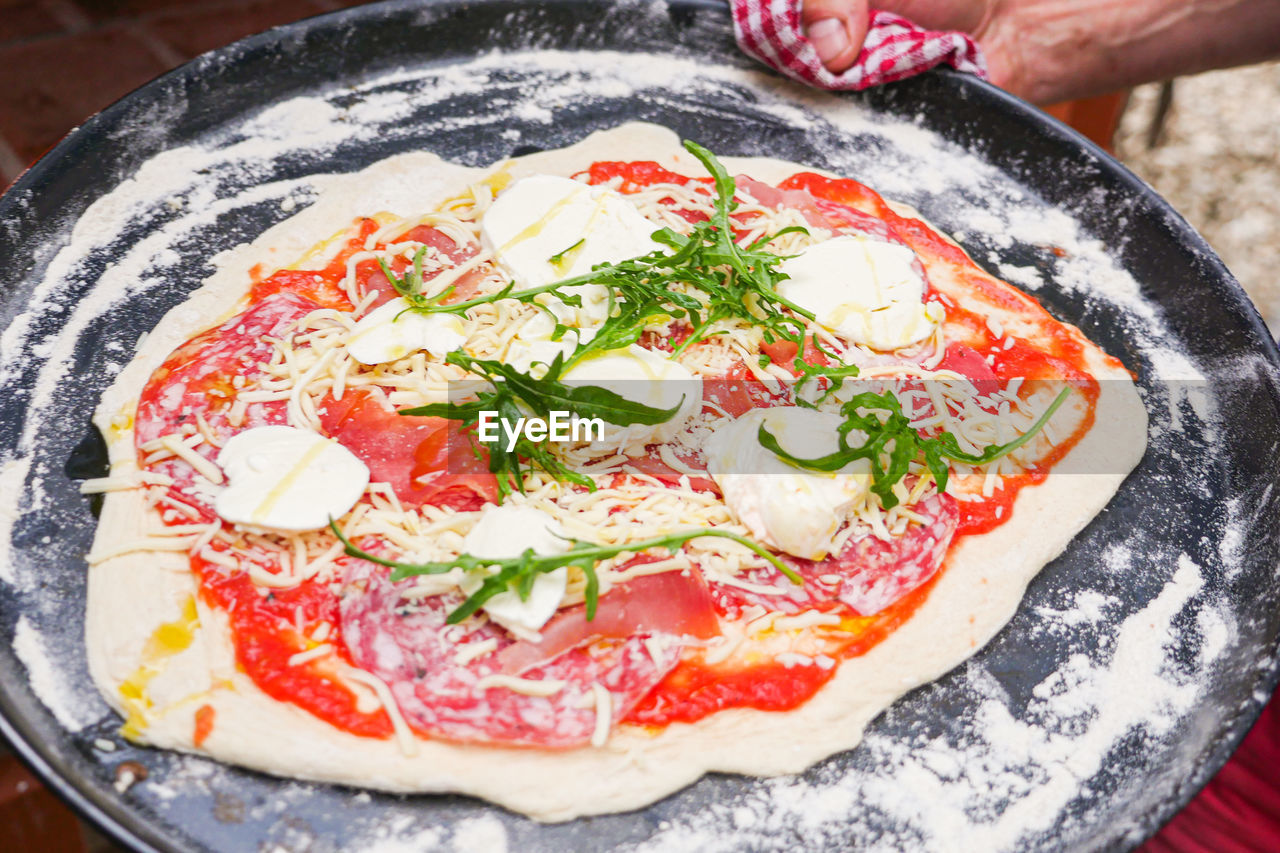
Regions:
<instances>
[{"instance_id":1,"label":"white flour scattered on the black tray all around the pizza","mask_svg":"<svg viewBox=\"0 0 1280 853\"><path fill-rule=\"evenodd\" d=\"M520 73L507 74L509 70ZM536 85L529 85L530 76L536 76ZM987 165L980 152L964 151L910 120L876 117L846 101L749 70L707 67L668 55L492 54L438 72L404 72L329 97L273 106L242 126L227 128L205 147L177 149L152 158L86 213L69 245L58 252L37 284L27 311L0 336L0 391L29 365L32 352L47 359L29 398L32 414L19 453L3 460L0 467L0 547L9 548L14 520L44 501L45 478L63 476L44 462L33 465L32 455L37 450L36 430L44 423L41 412L65 393L79 336L111 306L172 286L166 270L183 251L189 251L184 243L193 237L207 240L221 215L271 202L280 206L283 218L306 205L324 178L275 181L271 175L282 158L298 152L323 156L339 146L396 138L397 127L410 122L417 110L466 95L488 93L493 110L506 109L525 122L550 127L570 108L593 100L641 97L687 105L700 102L709 92L739 90L753 93L751 110L787 126L815 134L826 128L823 138L835 137L829 133L833 127L845 134L881 141L877 151L836 142L822 151L833 170L887 197L932 211L961 243L982 241L991 256L974 252L975 257L1015 283L1042 292L1056 288L1082 293L1098 305L1121 306L1125 333L1156 377L1203 379L1201 368L1171 342L1158 314L1139 295L1137 282L1100 241L1082 232L1071 211L1048 209ZM436 120L433 129L443 136L494 124L502 127L493 114L472 113ZM521 140L516 128L506 127L500 133L512 143ZM370 209L378 206L378 200L370 199ZM133 237L137 233L141 238ZM224 237L220 247L251 237ZM1062 256L1050 273L1001 260L1001 250L1027 245L1055 246ZM124 251L95 277L88 259L104 247ZM78 286L93 278L91 286ZM189 289L195 282L183 284ZM61 314L69 319L60 334L37 333L42 318ZM104 369L119 370L129 356L131 351L118 347L109 352ZM1192 400L1193 393L1179 393L1171 400L1148 401L1153 407L1151 442L1158 448L1207 441L1187 455L1185 476L1194 482L1196 465L1207 471L1213 464L1210 439L1217 415L1206 401ZM1059 826L1061 838L1070 838L1073 818L1064 817L1064 808L1089 794L1108 753L1126 739L1157 743L1166 735L1179 716L1203 697L1213 662L1235 642L1230 612L1212 592L1208 578L1230 575L1242 558L1239 543L1245 524L1248 519L1233 516L1230 525L1215 532L1222 543L1215 565L1162 552L1157 530L1135 530L1130 542L1116 543L1105 555L1106 569L1119 584L1132 581L1151 589L1148 603L1123 620L1117 617L1120 599L1107 590L1051 590L1053 606L1020 613L1018 630L1025 631L1021 642L1069 649L1064 662L1044 674L1021 707L1012 707L1000 681L980 661L970 661L960 670L957 688L965 703L955 711L954 730L946 736L913 739L887 735L873 726L849 766L826 762L801 777L763 780L724 802L687 811L680 808L677 795L667 818L637 849L781 849L836 841L868 849L904 844L1012 849L1028 834L1053 826ZM3 581L12 592L29 596L40 587L40 566L12 556L12 551L0 552L0 573L8 573ZM44 605L37 599L33 606ZM33 628L36 621L20 629L19 654L31 667L33 688L59 721L78 729L100 717L105 706L90 684L69 683L52 666L58 657L45 644L55 640L41 637ZM1185 635L1188 625L1194 629L1190 639ZM1188 643L1196 651L1190 665L1174 657L1174 648ZM891 708L887 713L896 712ZM165 803L184 793L216 789L225 772L202 760L173 761L177 770L164 780L134 789L161 813ZM307 785L288 785L280 802L305 800L314 792ZM517 830L492 815L435 829L413 820L412 804L388 806L387 820L378 825L348 827L352 844L388 853L438 844L475 849L479 841L490 849L508 840L511 847L518 847L516 839L508 839L508 831ZM253 820L276 826L271 821L285 817L273 817L264 806Z\"/></svg>"}]
</instances>

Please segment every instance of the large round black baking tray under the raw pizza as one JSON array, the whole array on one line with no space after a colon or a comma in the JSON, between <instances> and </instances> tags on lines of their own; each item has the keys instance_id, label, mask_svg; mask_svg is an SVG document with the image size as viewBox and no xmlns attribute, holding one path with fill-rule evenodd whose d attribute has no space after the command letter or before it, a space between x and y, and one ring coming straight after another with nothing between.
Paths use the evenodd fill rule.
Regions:
<instances>
[{"instance_id":1,"label":"large round black baking tray under the raw pizza","mask_svg":"<svg viewBox=\"0 0 1280 853\"><path fill-rule=\"evenodd\" d=\"M323 97L340 110L344 104L410 86L415 74L430 69L494 50L529 49L646 51L709 67L748 64L733 46L727 9L705 0L392 1L269 31L206 54L124 97L72 132L18 179L0 199L0 316L8 323L28 307L35 282L67 243L79 215L156 154L186 145L232 145L229 127L297 96ZM385 82L370 88L371 81ZM562 146L590 129L631 118L660 122L721 154L828 164L829 138L815 140L813 128L792 126L776 110L764 109L750 90L726 86L721 95L698 104L663 91L596 97L563 104L556 120L547 122L520 113L516 101L495 95L508 91L503 88L507 82L497 72L493 93L410 109L385 133L296 151L253 174L219 178L219 186L233 193L250 182L351 172L416 149L483 164ZM760 85L777 86L764 76ZM795 97L803 100L799 90ZM1193 382L1229 412L1212 432L1184 425L1176 443L1153 438L1142 465L1110 507L1046 567L1019 615L975 658L1016 712L1047 672L1080 651L1070 638L1028 642L1037 608L1060 606L1074 590L1105 590L1117 602L1096 626L1103 638L1097 644L1105 646L1107 630L1160 592L1180 555L1203 567L1203 589L1174 622L1172 654L1176 663L1192 666L1204 642L1194 619L1197 602L1228 602L1235 629L1204 681L1207 686L1167 731L1116 742L1103 768L1061 813L1016 839L1021 849L1130 848L1185 804L1228 760L1276 683L1280 489L1272 487L1280 480L1274 465L1280 446L1280 359L1275 343L1203 240L1149 187L1057 122L975 78L941 70L841 97L851 109L860 105L906 117L978 152L1046 204L1071 211L1138 280L1151 311L1162 318L1203 374ZM475 120L445 120L457 115ZM503 132L511 129L518 133ZM945 199L927 191L909 201L945 229L961 229L965 247L979 263L1053 268L1050 246L987 241L980 229L970 233L965 223L954 222ZM137 849L279 845L346 850L380 838L378 827L385 829L383 838L420 833L417 838L425 844L448 838L451 827L476 816L500 822L511 849L608 849L640 844L669 822L758 795L762 783L756 780L712 775L637 812L543 826L463 797L357 793L133 748L115 736L120 721L100 701L102 711L96 719L69 733L36 697L13 649L19 617L42 635L58 638L51 656L70 674L77 695L93 701L81 639L83 555L93 516L91 502L79 497L74 480L99 473L101 466L101 446L87 412L110 380L111 345L131 350L160 313L182 301L207 274L212 251L251 238L284 215L278 204L228 211L216 233L179 247L179 257L168 268L172 286L140 292L87 329L76 350L77 393L63 394L65 400L54 409L56 416L35 425L38 441L33 446L19 447L19 439L41 356L32 352L31 369L0 388L0 450L10 456L33 455L33 470L45 493L36 496L36 478L28 479L9 543L14 561L40 561L42 581L35 589L0 583L0 733L60 797L110 836ZM131 238L143 238L147 228L140 223ZM105 268L111 260L111 250L106 250L90 265ZM91 279L92 270L69 278L68 287L88 287ZM1152 378L1156 365L1135 345L1134 318L1126 309L1052 283L1036 296L1056 316L1078 324L1121 357L1138 374L1148 406L1180 405L1170 403L1175 391L1167 383ZM64 321L58 313L37 319L42 333L56 332ZM1184 412L1188 419L1193 414ZM1211 456L1212 464L1190 465L1188 460L1197 453ZM1221 558L1229 516L1254 519L1230 571ZM1108 548L1133 542L1138 534L1143 571L1116 578L1108 569ZM904 742L956 736L975 702L966 671L961 667L908 694L873 722L872 734ZM120 748L101 752L95 748L99 738L113 739ZM124 761L143 763L150 779L122 794L113 781ZM864 751L836 756L806 777L820 784L832 772L856 768L864 761ZM166 780L179 776L182 785L165 789ZM719 848L842 849L869 840L910 845L913 833L913 827L895 825L868 808L850 812L835 826L788 827L769 843L759 835L733 833L712 840Z\"/></svg>"}]
</instances>

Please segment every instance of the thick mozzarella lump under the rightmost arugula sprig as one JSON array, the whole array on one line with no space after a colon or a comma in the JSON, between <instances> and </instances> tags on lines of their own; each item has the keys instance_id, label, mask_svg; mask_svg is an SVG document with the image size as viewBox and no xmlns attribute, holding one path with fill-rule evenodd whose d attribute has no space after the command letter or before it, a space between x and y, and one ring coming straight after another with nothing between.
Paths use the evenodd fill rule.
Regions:
<instances>
[{"instance_id":1,"label":"thick mozzarella lump under the rightmost arugula sprig","mask_svg":"<svg viewBox=\"0 0 1280 853\"><path fill-rule=\"evenodd\" d=\"M870 462L856 460L837 473L795 467L765 450L760 425L788 453L818 457L838 450L842 418L813 409L753 409L719 426L704 446L707 469L733 517L760 542L822 560L836 533L867 500Z\"/></svg>"}]
</instances>

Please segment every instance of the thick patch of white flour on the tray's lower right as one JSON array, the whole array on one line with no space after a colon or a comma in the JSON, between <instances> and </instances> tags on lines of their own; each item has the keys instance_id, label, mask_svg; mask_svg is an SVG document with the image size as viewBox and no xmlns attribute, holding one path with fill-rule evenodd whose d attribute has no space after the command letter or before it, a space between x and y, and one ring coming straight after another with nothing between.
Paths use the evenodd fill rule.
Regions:
<instances>
[{"instance_id":1,"label":"thick patch of white flour on the tray's lower right","mask_svg":"<svg viewBox=\"0 0 1280 853\"><path fill-rule=\"evenodd\" d=\"M818 834L829 826L838 833L840 816L859 808L908 817L925 829L931 849L1012 849L1029 829L1056 818L1119 738L1139 727L1162 734L1196 701L1198 686L1162 675L1158 662L1172 642L1172 617L1202 584L1199 566L1179 558L1156 599L1123 622L1110 661L1098 665L1085 654L1069 658L1037 685L1024 719L1010 713L1000 685L982 665L968 663L983 698L974 711L973 736L963 749L942 740L904 742L873 734L859 748L892 766L891 775L771 780L744 803L712 806L700 824L672 826L640 849L732 850L744 841L767 844L790 829L778 815L799 817L803 831ZM1065 611L1057 624L1076 625L1091 612L1097 612L1092 603ZM1059 730L1060 724L1076 720L1080 725L1071 734ZM1033 772L1024 775L1024 768ZM893 840L883 849L900 848Z\"/></svg>"}]
</instances>

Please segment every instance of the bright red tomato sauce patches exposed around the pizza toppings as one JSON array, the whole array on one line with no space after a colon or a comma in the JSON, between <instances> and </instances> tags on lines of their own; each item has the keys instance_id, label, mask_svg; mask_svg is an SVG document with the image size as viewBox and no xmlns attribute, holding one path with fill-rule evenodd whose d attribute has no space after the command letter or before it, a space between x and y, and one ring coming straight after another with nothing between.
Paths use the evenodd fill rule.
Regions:
<instances>
[{"instance_id":1,"label":"bright red tomato sauce patches exposed around the pizza toppings","mask_svg":"<svg viewBox=\"0 0 1280 853\"><path fill-rule=\"evenodd\" d=\"M657 163L644 161L595 163L584 174L591 183L616 181L622 192L636 192L655 183L691 184L700 192L709 192L710 183L709 178L687 178ZM965 346L984 357L991 356L987 364L1001 386L1018 377L1024 382L1066 380L1083 393L1088 402L1088 412L1080 426L1059 442L1038 470L1018 478L1006 478L1004 487L991 498L960 505L956 535L986 533L1007 521L1012 516L1018 493L1027 485L1042 482L1047 469L1065 456L1092 425L1098 386L1084 370L1084 346L1078 333L1053 320L1034 300L997 287L963 251L924 223L897 215L879 195L855 181L800 173L782 182L780 188L805 190L827 204L827 210L831 210L829 205L842 205L859 215L881 219L887 223L893 236L916 251L927 270L933 265L947 265L954 277L972 288L978 301L1039 319L1037 324L1039 339L1036 346L1015 339L1009 348L1005 348L1005 341L996 339L977 311L965 306L947 305L948 330L951 328L956 330L951 337L963 339ZM690 213L686 218L698 220L703 216ZM854 219L856 216L849 218ZM251 302L271 293L292 291L307 296L321 306L351 310L351 300L342 288L348 259L364 250L365 241L376 229L375 220L361 220L353 236L323 270L280 270L268 277L260 277L261 270L255 270ZM407 261L397 259L393 272L399 274L406 265ZM379 297L383 301L393 296L385 275L372 261L357 265L357 279L366 292L387 291ZM461 292L454 298L465 296L466 293ZM795 345L783 342L771 346L773 348L768 353L774 360L790 361L796 355ZM804 357L806 361L822 360L820 353L810 351L808 346ZM228 392L230 392L229 384ZM250 580L247 573L230 574L202 557L192 557L192 569L200 580L202 599L225 612L230 620L238 666L265 693L278 701L305 708L344 731L371 738L392 735L388 715L381 710L361 711L352 690L333 674L332 662L320 660L301 666L288 663L293 654L315 646L307 635L321 622L330 625L326 642L333 644L337 658L349 663L351 658L339 634L338 601L326 584L305 583L293 589L264 593ZM943 570L945 565L929 581L874 616L858 616L844 605L836 605L836 612L841 613L842 622L840 633L831 634L826 646L829 649L827 654L838 661L873 648L919 608ZM700 656L691 656L680 662L626 717L626 721L645 726L664 726L675 721L692 722L733 707L786 711L809 699L835 676L836 669L818 663L787 667L773 658L748 666L709 665ZM201 738L207 736L211 725L211 717L201 722Z\"/></svg>"}]
</instances>

